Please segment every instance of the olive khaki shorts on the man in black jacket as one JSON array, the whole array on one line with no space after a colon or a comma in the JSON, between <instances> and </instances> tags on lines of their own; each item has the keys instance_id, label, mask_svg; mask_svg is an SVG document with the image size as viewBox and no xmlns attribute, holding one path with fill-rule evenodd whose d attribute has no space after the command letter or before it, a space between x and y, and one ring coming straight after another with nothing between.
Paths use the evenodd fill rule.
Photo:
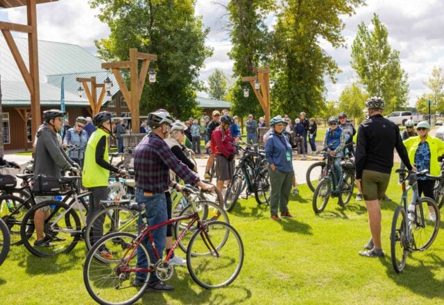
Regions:
<instances>
[{"instance_id":1,"label":"olive khaki shorts on the man in black jacket","mask_svg":"<svg viewBox=\"0 0 444 305\"><path fill-rule=\"evenodd\" d=\"M364 169L361 177L361 188L364 200L382 200L386 193L390 174Z\"/></svg>"}]
</instances>

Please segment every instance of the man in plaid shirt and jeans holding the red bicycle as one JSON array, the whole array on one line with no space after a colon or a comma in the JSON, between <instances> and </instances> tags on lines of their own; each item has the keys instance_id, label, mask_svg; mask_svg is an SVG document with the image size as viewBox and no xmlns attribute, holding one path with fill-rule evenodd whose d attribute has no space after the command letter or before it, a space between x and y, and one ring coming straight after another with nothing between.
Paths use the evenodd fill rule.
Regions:
<instances>
[{"instance_id":1,"label":"man in plaid shirt and jeans holding the red bicycle","mask_svg":"<svg viewBox=\"0 0 444 305\"><path fill-rule=\"evenodd\" d=\"M166 111L152 112L148 115L148 125L152 128L144 139L134 150L134 171L136 182L136 201L145 205L145 215L150 226L167 221L167 200L164 192L168 190L169 184L175 184L169 179L171 169L187 184L196 184L201 189L211 189L211 185L204 184L199 177L189 168L180 162L171 152L164 139L167 136L169 125L174 119ZM142 225L139 224L139 225ZM162 226L153 231L154 244L162 258L167 238L167 226ZM157 259L153 252L149 238L143 241L148 248L151 263L156 263ZM148 268L146 256L142 248L137 248L137 268ZM147 280L146 273L137 272L135 286L142 286ZM149 290L173 290L172 286L163 284L157 279L155 272L151 273L148 284Z\"/></svg>"}]
</instances>

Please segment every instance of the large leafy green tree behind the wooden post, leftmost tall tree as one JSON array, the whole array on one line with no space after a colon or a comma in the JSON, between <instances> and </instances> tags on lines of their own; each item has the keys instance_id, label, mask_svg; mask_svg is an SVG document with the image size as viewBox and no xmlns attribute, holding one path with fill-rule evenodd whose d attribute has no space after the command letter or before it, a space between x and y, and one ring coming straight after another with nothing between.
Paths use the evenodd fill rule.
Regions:
<instances>
[{"instance_id":1,"label":"large leafy green tree behind the wooden post, leftmost tall tree","mask_svg":"<svg viewBox=\"0 0 444 305\"><path fill-rule=\"evenodd\" d=\"M99 19L110 27L110 37L96 41L103 60L128 60L129 48L157 54L157 81L148 85L146 80L141 114L160 107L181 119L198 113L196 91L203 89L198 73L212 49L205 46L209 29L195 15L195 2L89 0L92 8L100 9Z\"/></svg>"}]
</instances>

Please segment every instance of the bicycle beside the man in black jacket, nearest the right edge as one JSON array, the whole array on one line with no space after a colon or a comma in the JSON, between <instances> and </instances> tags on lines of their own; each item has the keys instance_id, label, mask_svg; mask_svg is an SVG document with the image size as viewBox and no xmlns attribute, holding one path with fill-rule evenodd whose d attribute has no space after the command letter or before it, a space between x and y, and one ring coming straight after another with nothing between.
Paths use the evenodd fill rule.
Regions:
<instances>
[{"instance_id":1,"label":"bicycle beside the man in black jacket, nearest the right edge","mask_svg":"<svg viewBox=\"0 0 444 305\"><path fill-rule=\"evenodd\" d=\"M418 173L399 168L396 173L400 174L402 198L393 214L390 246L393 268L399 273L404 270L407 254L424 251L432 245L441 222L436 202L429 197L418 198L417 177L442 180L444 172L441 172L441 176L432 176L427 174L427 170ZM409 180L408 187L407 180ZM413 195L411 203L407 206L408 193L411 190Z\"/></svg>"}]
</instances>

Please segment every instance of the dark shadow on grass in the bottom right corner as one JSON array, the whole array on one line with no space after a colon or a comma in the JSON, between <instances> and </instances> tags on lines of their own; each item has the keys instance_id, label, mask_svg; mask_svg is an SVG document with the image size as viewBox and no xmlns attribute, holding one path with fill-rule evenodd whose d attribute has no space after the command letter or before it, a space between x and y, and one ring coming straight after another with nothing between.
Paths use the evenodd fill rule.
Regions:
<instances>
[{"instance_id":1,"label":"dark shadow on grass in the bottom right corner","mask_svg":"<svg viewBox=\"0 0 444 305\"><path fill-rule=\"evenodd\" d=\"M414 255L414 254L413 254ZM417 295L434 299L436 297L444 299L444 281L435 278L432 270L442 268L444 261L435 254L430 254L433 262L425 264L424 261L416 259L413 255L407 256L407 265L401 273L393 270L391 259L387 257L384 265L387 268L387 275L390 279L403 286ZM418 261L420 265L409 265L409 260Z\"/></svg>"}]
</instances>

